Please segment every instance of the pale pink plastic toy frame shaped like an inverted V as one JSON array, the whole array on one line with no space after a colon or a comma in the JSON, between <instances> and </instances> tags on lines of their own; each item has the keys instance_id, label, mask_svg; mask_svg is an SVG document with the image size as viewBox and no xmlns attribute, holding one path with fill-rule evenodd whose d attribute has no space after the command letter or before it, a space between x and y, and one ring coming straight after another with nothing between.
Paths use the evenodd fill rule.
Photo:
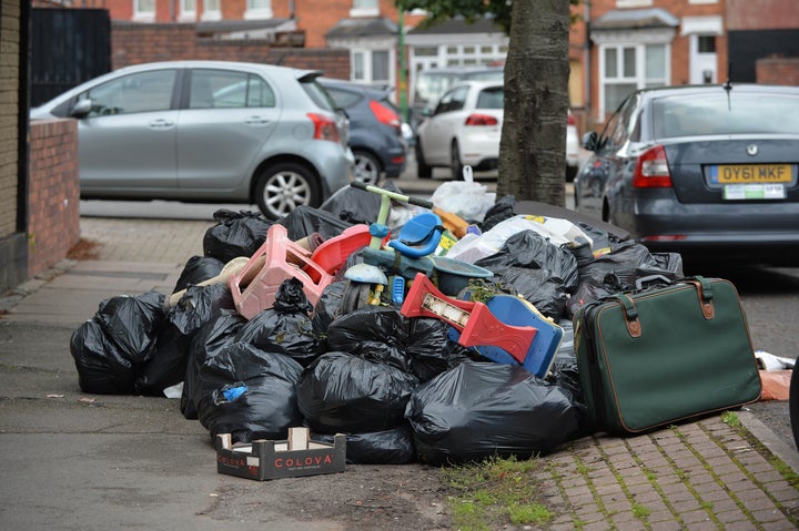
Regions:
<instances>
[{"instance_id":1,"label":"pale pink plastic toy frame shaped like an inverted V","mask_svg":"<svg viewBox=\"0 0 799 531\"><path fill-rule=\"evenodd\" d=\"M312 305L333 282L333 276L311 259L311 253L289 239L287 235L283 225L272 225L261 248L230 279L233 303L242 317L252 319L271 308L280 285L291 277L303 283L303 290Z\"/></svg>"}]
</instances>

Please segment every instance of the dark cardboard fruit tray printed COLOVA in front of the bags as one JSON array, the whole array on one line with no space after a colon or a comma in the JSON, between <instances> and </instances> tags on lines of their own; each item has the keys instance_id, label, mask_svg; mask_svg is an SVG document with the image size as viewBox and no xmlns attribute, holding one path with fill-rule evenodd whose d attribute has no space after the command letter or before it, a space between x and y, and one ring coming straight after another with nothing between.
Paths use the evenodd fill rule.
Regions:
<instances>
[{"instance_id":1,"label":"dark cardboard fruit tray printed COLOVA in front of the bags","mask_svg":"<svg viewBox=\"0 0 799 531\"><path fill-rule=\"evenodd\" d=\"M259 481L343 472L346 462L345 435L336 433L328 445L310 440L307 428L289 428L287 440L235 445L230 433L219 433L215 447L219 473Z\"/></svg>"}]
</instances>

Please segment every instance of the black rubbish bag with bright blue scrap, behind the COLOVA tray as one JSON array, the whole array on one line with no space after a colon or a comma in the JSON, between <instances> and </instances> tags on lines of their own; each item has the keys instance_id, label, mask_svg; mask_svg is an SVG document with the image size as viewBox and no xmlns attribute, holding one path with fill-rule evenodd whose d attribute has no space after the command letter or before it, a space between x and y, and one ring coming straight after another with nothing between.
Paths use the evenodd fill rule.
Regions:
<instances>
[{"instance_id":1,"label":"black rubbish bag with bright blue scrap, behind the COLOVA tray","mask_svg":"<svg viewBox=\"0 0 799 531\"><path fill-rule=\"evenodd\" d=\"M231 343L200 367L198 418L212 438L285 439L301 426L295 387L302 367L289 356Z\"/></svg>"}]
</instances>

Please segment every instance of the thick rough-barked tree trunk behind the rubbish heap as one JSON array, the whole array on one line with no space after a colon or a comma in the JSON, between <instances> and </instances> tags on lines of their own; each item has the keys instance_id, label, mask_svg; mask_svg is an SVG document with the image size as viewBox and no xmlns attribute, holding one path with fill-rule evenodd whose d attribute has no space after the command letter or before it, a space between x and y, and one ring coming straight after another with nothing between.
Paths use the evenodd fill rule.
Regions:
<instances>
[{"instance_id":1,"label":"thick rough-barked tree trunk behind the rubbish heap","mask_svg":"<svg viewBox=\"0 0 799 531\"><path fill-rule=\"evenodd\" d=\"M565 206L569 0L513 3L497 197Z\"/></svg>"}]
</instances>

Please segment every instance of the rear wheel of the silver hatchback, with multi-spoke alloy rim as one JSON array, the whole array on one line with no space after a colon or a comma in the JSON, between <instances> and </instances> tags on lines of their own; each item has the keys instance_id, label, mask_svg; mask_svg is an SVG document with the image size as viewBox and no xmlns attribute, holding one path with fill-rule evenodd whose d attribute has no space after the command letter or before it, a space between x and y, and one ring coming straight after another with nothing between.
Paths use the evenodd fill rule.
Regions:
<instances>
[{"instance_id":1,"label":"rear wheel of the silver hatchback, with multi-spoke alloy rim","mask_svg":"<svg viewBox=\"0 0 799 531\"><path fill-rule=\"evenodd\" d=\"M283 162L267 167L255 185L255 201L269 219L277 219L301 205L318 206L316 175L302 164Z\"/></svg>"}]
</instances>

